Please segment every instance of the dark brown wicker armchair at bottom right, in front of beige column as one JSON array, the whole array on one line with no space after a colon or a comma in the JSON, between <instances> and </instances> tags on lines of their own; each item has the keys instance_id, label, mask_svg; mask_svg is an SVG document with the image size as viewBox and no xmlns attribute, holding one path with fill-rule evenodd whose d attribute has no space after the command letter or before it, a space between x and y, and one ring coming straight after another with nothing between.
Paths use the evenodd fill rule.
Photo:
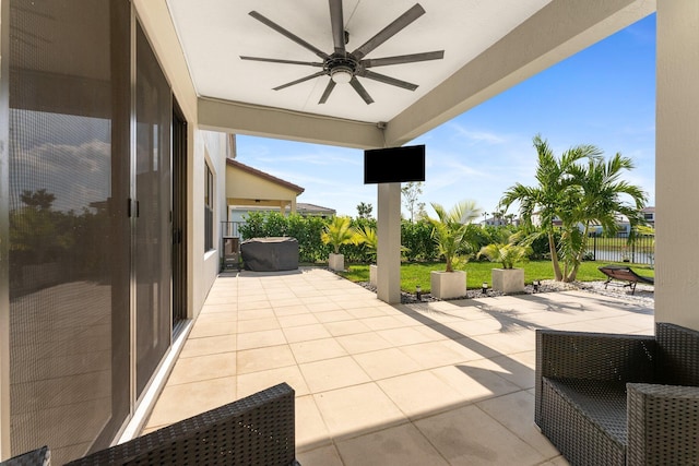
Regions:
<instances>
[{"instance_id":1,"label":"dark brown wicker armchair at bottom right, in front of beige column","mask_svg":"<svg viewBox=\"0 0 699 466\"><path fill-rule=\"evenodd\" d=\"M571 465L699 465L699 332L536 332L534 420Z\"/></svg>"}]
</instances>

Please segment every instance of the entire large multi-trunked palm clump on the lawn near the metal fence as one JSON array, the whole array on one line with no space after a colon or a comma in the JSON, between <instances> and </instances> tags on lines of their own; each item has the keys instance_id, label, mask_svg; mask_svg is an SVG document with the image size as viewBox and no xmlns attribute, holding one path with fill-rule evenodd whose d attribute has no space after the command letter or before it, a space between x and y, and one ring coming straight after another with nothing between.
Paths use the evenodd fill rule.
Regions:
<instances>
[{"instance_id":1,"label":"entire large multi-trunked palm clump on the lawn near the metal fence","mask_svg":"<svg viewBox=\"0 0 699 466\"><path fill-rule=\"evenodd\" d=\"M538 135L534 138L534 147L538 154L538 186L517 183L506 191L501 202L506 208L513 202L520 203L525 227L532 226L532 216L538 211L541 234L548 237L556 280L572 282L587 248L590 226L602 225L603 230L612 234L616 231L617 217L625 215L635 231L635 226L644 222L640 210L645 203L645 194L620 179L624 170L633 168L631 159L620 154L605 162L597 147L578 145L556 158ZM583 159L588 160L587 165L581 163ZM623 196L629 196L632 203L624 202ZM561 224L558 244L554 237L554 219ZM562 271L560 262L564 263Z\"/></svg>"}]
</instances>

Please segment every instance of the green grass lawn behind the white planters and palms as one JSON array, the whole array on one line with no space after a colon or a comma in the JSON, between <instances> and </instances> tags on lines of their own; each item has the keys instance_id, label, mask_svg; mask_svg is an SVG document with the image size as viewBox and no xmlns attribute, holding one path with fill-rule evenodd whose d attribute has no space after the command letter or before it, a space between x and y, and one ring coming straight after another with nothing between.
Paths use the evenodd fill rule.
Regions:
<instances>
[{"instance_id":1,"label":"green grass lawn behind the white planters and palms","mask_svg":"<svg viewBox=\"0 0 699 466\"><path fill-rule=\"evenodd\" d=\"M578 272L579 282L593 282L605 279L606 276L597 270L599 266L607 265L609 262L583 262ZM639 275L654 277L654 272L645 264L624 264L630 265ZM490 270L499 267L500 264L493 262L469 262L462 270L466 271L466 287L481 288L484 282L491 286ZM524 282L531 284L535 279L553 279L554 271L550 261L532 261L522 266L524 268ZM422 262L406 263L401 265L401 289L407 292L414 292L417 285L424 292L430 291L429 273L431 271L443 271L443 262ZM369 282L368 265L350 265L346 272L340 275L352 282Z\"/></svg>"}]
</instances>

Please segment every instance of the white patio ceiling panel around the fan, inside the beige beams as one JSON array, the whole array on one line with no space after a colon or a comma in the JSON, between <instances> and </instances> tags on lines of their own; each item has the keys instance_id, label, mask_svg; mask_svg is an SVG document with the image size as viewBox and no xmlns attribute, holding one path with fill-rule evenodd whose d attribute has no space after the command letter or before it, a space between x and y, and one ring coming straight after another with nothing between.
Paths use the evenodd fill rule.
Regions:
<instances>
[{"instance_id":1,"label":"white patio ceiling panel around the fan, inside the beige beams","mask_svg":"<svg viewBox=\"0 0 699 466\"><path fill-rule=\"evenodd\" d=\"M348 85L339 84L319 104L329 76L280 91L273 87L318 68L241 60L240 56L315 61L320 59L253 19L254 10L315 47L332 53L327 0L167 0L186 60L201 97L319 113L342 119L390 121L463 68L550 0L419 0L425 14L369 52L381 58L445 50L441 60L374 68L417 84L415 91L358 77L375 103L367 105ZM359 47L415 4L415 0L344 0L347 50Z\"/></svg>"}]
</instances>

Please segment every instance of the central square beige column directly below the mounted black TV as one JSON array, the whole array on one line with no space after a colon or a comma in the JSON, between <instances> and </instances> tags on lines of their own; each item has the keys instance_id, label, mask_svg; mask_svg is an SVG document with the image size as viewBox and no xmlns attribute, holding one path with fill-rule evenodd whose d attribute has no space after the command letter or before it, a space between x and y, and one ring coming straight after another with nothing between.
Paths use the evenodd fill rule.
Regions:
<instances>
[{"instance_id":1,"label":"central square beige column directly below the mounted black TV","mask_svg":"<svg viewBox=\"0 0 699 466\"><path fill-rule=\"evenodd\" d=\"M401 302L401 183L378 184L377 297Z\"/></svg>"}]
</instances>

